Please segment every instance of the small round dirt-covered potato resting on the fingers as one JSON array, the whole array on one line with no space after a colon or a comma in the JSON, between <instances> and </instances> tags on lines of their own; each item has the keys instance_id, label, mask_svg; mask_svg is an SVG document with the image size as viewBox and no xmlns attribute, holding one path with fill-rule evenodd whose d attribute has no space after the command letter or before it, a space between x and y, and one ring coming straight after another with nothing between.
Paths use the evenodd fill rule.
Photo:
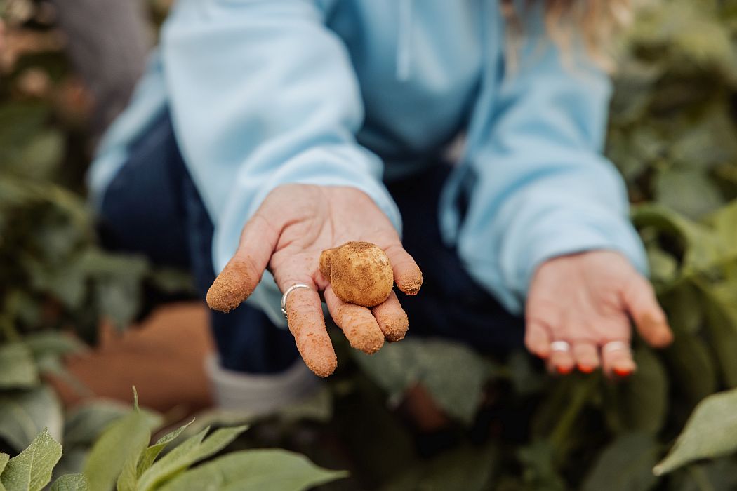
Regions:
<instances>
[{"instance_id":1,"label":"small round dirt-covered potato resting on the fingers","mask_svg":"<svg viewBox=\"0 0 737 491\"><path fill-rule=\"evenodd\" d=\"M364 307L382 303L394 286L389 258L369 242L347 242L323 251L320 271L329 278L332 291L340 300Z\"/></svg>"}]
</instances>

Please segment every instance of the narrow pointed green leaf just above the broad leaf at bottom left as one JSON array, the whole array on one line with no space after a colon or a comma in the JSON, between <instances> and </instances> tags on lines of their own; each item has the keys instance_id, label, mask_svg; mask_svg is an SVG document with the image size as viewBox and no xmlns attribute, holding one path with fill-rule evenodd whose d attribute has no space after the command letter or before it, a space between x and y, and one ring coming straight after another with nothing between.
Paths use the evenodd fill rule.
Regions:
<instances>
[{"instance_id":1,"label":"narrow pointed green leaf just above the broad leaf at bottom left","mask_svg":"<svg viewBox=\"0 0 737 491\"><path fill-rule=\"evenodd\" d=\"M214 431L212 435L205 438L205 434L209 428L205 428L200 433L189 437L184 443L178 445L170 453L161 457L158 462L154 463L139 479L139 490L153 490L175 474L185 470L195 462L206 459L214 455L238 435L245 431L248 426L237 426L235 428L220 428Z\"/></svg>"}]
</instances>

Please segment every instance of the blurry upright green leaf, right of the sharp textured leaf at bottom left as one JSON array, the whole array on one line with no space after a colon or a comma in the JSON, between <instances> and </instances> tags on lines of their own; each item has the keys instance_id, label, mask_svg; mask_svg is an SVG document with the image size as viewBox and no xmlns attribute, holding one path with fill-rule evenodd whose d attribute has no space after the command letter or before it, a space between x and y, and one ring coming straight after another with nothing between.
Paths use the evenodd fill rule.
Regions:
<instances>
[{"instance_id":1,"label":"blurry upright green leaf, right of the sharp textured leaf at bottom left","mask_svg":"<svg viewBox=\"0 0 737 491\"><path fill-rule=\"evenodd\" d=\"M109 490L132 453L151 438L151 428L161 424L161 417L146 411L130 411L111 423L95 442L85 463L84 473L92 490Z\"/></svg>"}]
</instances>

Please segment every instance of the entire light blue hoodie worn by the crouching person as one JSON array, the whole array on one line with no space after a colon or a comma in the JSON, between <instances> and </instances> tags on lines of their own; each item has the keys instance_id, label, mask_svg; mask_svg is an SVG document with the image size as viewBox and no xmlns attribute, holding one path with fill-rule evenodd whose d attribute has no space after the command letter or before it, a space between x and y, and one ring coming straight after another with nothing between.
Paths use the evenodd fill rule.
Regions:
<instances>
[{"instance_id":1,"label":"entire light blue hoodie worn by the crouching person","mask_svg":"<svg viewBox=\"0 0 737 491\"><path fill-rule=\"evenodd\" d=\"M465 133L441 230L506 308L522 310L535 268L556 255L616 250L644 272L624 184L601 156L609 80L562 57L539 12L525 29L510 70L496 0L180 0L91 189L104 193L168 107L220 271L284 183L359 188L399 230L382 180L422 172ZM250 301L284 325L279 297L267 274Z\"/></svg>"}]
</instances>

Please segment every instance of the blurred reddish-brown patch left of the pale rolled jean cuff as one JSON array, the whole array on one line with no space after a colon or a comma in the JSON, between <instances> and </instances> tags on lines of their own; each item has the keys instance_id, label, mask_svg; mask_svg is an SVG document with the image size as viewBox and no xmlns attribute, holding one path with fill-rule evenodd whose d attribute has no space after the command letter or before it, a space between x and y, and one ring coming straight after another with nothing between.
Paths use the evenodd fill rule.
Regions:
<instances>
[{"instance_id":1,"label":"blurred reddish-brown patch left of the pale rolled jean cuff","mask_svg":"<svg viewBox=\"0 0 737 491\"><path fill-rule=\"evenodd\" d=\"M212 406L203 369L212 350L205 305L167 305L122 334L103 326L99 347L69 358L67 370L90 394L80 394L57 378L52 385L66 406L93 395L131 403L135 385L142 406L185 417Z\"/></svg>"}]
</instances>

